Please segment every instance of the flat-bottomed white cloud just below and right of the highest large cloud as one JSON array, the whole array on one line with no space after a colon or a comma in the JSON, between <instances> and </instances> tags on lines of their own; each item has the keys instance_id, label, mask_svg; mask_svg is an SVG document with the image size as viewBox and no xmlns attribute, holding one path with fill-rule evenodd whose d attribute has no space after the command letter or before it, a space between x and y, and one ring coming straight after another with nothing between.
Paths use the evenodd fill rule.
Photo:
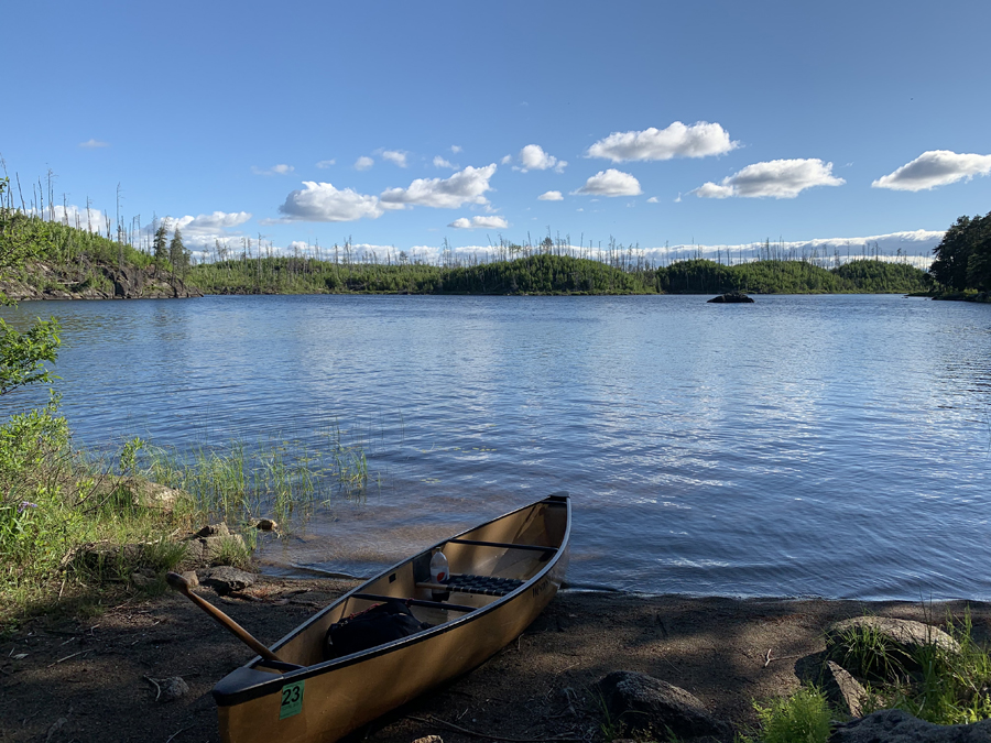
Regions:
<instances>
[{"instance_id":1,"label":"flat-bottomed white cloud just below and right of the highest large cloud","mask_svg":"<svg viewBox=\"0 0 991 743\"><path fill-rule=\"evenodd\" d=\"M722 183L706 183L695 189L700 198L795 198L806 188L842 186L842 178L832 175L832 163L821 160L772 160L748 165Z\"/></svg>"}]
</instances>

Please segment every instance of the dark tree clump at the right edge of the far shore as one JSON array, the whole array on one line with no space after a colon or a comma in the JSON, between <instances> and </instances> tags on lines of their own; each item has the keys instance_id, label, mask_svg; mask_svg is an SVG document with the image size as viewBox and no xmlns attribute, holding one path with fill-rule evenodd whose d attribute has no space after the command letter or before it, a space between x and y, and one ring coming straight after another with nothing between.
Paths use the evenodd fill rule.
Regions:
<instances>
[{"instance_id":1,"label":"dark tree clump at the right edge of the far shore","mask_svg":"<svg viewBox=\"0 0 991 743\"><path fill-rule=\"evenodd\" d=\"M929 273L943 286L963 292L991 289L991 211L959 217L933 250Z\"/></svg>"}]
</instances>

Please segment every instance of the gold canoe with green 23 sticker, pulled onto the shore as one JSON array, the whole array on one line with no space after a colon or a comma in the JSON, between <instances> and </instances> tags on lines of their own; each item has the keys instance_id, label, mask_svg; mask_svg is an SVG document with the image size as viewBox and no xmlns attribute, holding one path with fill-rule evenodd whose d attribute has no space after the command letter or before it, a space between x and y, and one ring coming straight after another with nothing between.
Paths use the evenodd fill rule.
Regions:
<instances>
[{"instance_id":1,"label":"gold canoe with green 23 sticker, pulled onto the shore","mask_svg":"<svg viewBox=\"0 0 991 743\"><path fill-rule=\"evenodd\" d=\"M440 542L381 572L214 687L226 743L330 743L471 670L515 638L560 587L571 507L556 493ZM449 598L434 601L429 561L450 564ZM494 588L493 588L494 587ZM328 627L385 598L412 599L417 634L324 660Z\"/></svg>"}]
</instances>

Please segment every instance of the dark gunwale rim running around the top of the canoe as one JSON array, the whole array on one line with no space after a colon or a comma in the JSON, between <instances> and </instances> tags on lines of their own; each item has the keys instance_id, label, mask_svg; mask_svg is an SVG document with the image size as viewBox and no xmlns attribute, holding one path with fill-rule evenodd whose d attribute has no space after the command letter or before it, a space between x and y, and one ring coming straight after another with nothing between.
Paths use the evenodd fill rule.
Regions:
<instances>
[{"instance_id":1,"label":"dark gunwale rim running around the top of the canoe","mask_svg":"<svg viewBox=\"0 0 991 743\"><path fill-rule=\"evenodd\" d=\"M249 677L252 679L258 678L259 680L257 682L248 681L243 685L239 685L238 688L231 689L228 691L226 689L218 688L224 685L224 680L228 677L225 677L225 679L220 679L220 681L217 682L217 685L214 687L214 690L213 690L213 696L214 696L214 699L215 699L217 706L218 707L233 707L237 704L241 704L243 702L251 701L253 699L258 699L260 697L264 697L270 693L276 693L286 684L294 684L296 681L303 681L307 678L312 678L315 676L322 676L326 673L330 673L330 671L337 670L339 668L346 668L348 666L351 666L351 665L355 665L358 663L363 663L364 660L378 657L380 655L385 655L388 653L392 653L393 651L399 649L401 647L412 646L417 643L426 642L428 640L432 640L434 637L443 635L447 632L457 630L468 622L473 622L475 620L483 616L484 614L488 614L493 611L498 611L499 609L504 608L507 604L512 603L524 591L529 591L529 590L533 589L534 586L536 586L541 580L543 580L546 576L548 576L557 567L557 565L560 562L560 560L563 558L565 558L568 554L568 543L569 543L570 534L571 534L571 502L570 502L570 499L569 499L567 492L552 493L551 495L547 495L546 498L543 498L540 501L534 501L533 503L529 503L526 505L520 506L519 509L513 509L512 511L509 511L509 512L502 514L501 516L497 516L487 522L483 522L482 524L478 524L476 526L467 528L464 532L460 532L459 534L455 535L454 537L448 537L447 539L442 539L440 542L437 542L436 544L432 545L431 547L427 547L426 549L421 550L413 557L407 557L403 560L400 560L395 565L392 565L391 567L382 570L378 575L372 576L368 580L363 581L360 586L352 588L350 591L348 591L347 593L341 596L339 599L337 599L336 601L331 602L330 604L328 604L327 607L325 607L324 609L318 611L316 614L314 614L308 620L306 620L303 624L301 624L300 626L294 629L292 632L290 632L287 635L285 635L281 640L279 640L274 645L271 646L271 648L272 648L272 651L277 653L280 647L282 647L283 645L285 645L286 643L288 643L290 641L295 638L301 633L305 632L307 630L307 627L309 627L315 622L318 622L327 612L331 611L334 608L344 603L348 599L357 598L357 594L364 592L362 589L366 586L379 580L380 578L388 576L390 572L394 572L394 571L399 570L402 566L410 562L416 556L422 555L424 553L428 553L434 549L437 549L438 547L442 547L443 545L447 544L451 539L456 539L464 534L468 534L469 532L473 532L476 529L482 528L484 526L488 526L491 523L500 521L501 518L505 518L507 516L510 516L514 513L524 511L526 509L533 509L541 504L564 506L567 509L567 517L565 518L565 533L560 539L559 546L555 548L553 556L540 569L540 571L536 575L534 575L532 578L530 578L529 580L523 582L521 586L519 586L518 588L512 590L511 592L507 593L505 596L497 598L496 601L492 601L492 602L486 604L484 607L479 607L479 608L475 609L470 613L465 613L461 616L453 619L443 624L438 624L437 626L432 627L429 630L425 630L425 631L418 632L414 635L410 635L409 637L402 637L402 638L395 640L391 643L386 643L384 645L378 645L373 648L369 648L369 649L362 651L360 653L353 653L351 655L346 655L341 658L324 660L322 663L317 663L312 666L301 666L298 669L294 669L294 670L287 670L287 671L280 673L280 674L271 674L268 671L255 670L255 666L261 666L262 668L265 667L262 663L260 663L263 660L263 658L261 656L257 655L253 658L251 658L251 660L246 663L243 666L240 666L235 671L231 671L231 674L229 674L228 677L233 674L239 674L241 676L241 678L244 679L244 681L248 681ZM244 674L243 671L253 671L253 673ZM258 676L255 676L255 674L258 674ZM264 675L266 678L261 680L261 675Z\"/></svg>"}]
</instances>

